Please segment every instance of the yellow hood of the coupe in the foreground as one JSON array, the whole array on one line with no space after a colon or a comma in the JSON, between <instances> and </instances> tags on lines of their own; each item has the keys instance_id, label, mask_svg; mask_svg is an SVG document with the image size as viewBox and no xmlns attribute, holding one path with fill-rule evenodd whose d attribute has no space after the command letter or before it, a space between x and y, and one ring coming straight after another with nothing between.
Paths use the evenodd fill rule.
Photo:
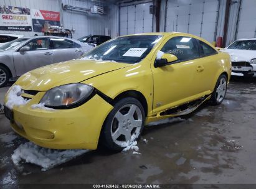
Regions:
<instances>
[{"instance_id":1,"label":"yellow hood of the coupe in the foreground","mask_svg":"<svg viewBox=\"0 0 256 189\"><path fill-rule=\"evenodd\" d=\"M22 90L47 91L55 86L79 83L97 75L131 66L101 60L71 60L37 68L22 75L16 85Z\"/></svg>"}]
</instances>

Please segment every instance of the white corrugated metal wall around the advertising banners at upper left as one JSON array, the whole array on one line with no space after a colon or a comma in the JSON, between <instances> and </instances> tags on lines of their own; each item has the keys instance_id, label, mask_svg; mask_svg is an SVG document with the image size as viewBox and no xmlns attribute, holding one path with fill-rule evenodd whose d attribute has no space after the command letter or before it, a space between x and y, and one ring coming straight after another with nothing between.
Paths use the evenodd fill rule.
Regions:
<instances>
[{"instance_id":1,"label":"white corrugated metal wall around the advertising banners at upper left","mask_svg":"<svg viewBox=\"0 0 256 189\"><path fill-rule=\"evenodd\" d=\"M93 6L92 1L88 0L1 0L0 4L17 7L27 7L30 9L41 9L47 11L60 12L60 22L65 29L75 29L73 38L77 39L83 35L100 34L104 35L105 27L109 27L108 14L85 14L85 12L78 11L64 11L63 4L70 4L72 6L79 6L90 8ZM63 16L63 17L62 17ZM63 22L62 22L63 21ZM25 36L34 36L34 34L43 35L39 32L25 32L25 31L10 31L0 30L0 32L7 32L12 34L22 34Z\"/></svg>"}]
</instances>

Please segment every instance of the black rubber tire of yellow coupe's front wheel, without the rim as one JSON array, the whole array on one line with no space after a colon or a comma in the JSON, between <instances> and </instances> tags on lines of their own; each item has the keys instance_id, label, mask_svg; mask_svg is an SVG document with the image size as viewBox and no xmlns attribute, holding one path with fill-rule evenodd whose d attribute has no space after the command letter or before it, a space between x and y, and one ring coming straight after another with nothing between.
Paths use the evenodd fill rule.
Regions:
<instances>
[{"instance_id":1,"label":"black rubber tire of yellow coupe's front wheel, without the rim","mask_svg":"<svg viewBox=\"0 0 256 189\"><path fill-rule=\"evenodd\" d=\"M125 147L121 147L120 145L115 144L115 142L113 141L113 139L111 137L111 123L112 123L112 120L113 120L116 112L122 106L124 106L125 104L135 104L141 110L142 119L143 119L142 120L142 126L141 126L141 129L140 129L140 134L135 139L135 141L141 136L141 132L143 131L143 128L144 128L145 111L144 111L144 108L141 105L140 101L138 101L135 98L130 98L130 97L120 99L120 101L115 103L114 108L111 110L111 112L108 114L107 118L105 119L105 122L103 124L101 139L100 139L100 143L102 145L104 145L105 147L107 147L108 149L110 149L110 150L121 151L125 148Z\"/></svg>"}]
</instances>

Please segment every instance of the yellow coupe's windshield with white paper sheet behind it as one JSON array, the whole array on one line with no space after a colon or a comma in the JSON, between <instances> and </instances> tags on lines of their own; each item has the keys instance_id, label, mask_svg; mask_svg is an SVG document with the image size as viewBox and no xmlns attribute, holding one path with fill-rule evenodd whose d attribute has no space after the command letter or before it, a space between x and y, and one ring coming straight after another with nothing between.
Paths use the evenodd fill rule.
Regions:
<instances>
[{"instance_id":1,"label":"yellow coupe's windshield with white paper sheet behind it","mask_svg":"<svg viewBox=\"0 0 256 189\"><path fill-rule=\"evenodd\" d=\"M111 60L136 63L148 55L163 35L132 35L118 37L94 48L83 56L84 59Z\"/></svg>"}]
</instances>

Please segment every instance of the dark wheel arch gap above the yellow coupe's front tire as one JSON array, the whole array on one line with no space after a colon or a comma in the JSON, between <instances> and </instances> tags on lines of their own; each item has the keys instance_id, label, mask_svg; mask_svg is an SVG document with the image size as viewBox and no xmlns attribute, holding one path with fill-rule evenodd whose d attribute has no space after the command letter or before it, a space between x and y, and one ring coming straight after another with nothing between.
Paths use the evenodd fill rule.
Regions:
<instances>
[{"instance_id":1,"label":"dark wheel arch gap above the yellow coupe's front tire","mask_svg":"<svg viewBox=\"0 0 256 189\"><path fill-rule=\"evenodd\" d=\"M113 101L111 102L111 104L115 104L116 102L118 102L120 99L126 98L126 97L131 97L131 98L135 98L138 99L138 101L140 101L140 103L142 104L144 111L145 111L145 116L148 116L148 103L146 101L145 96L140 92L140 91L136 91L136 90L128 90L128 91L123 91L122 93L118 94Z\"/></svg>"}]
</instances>

